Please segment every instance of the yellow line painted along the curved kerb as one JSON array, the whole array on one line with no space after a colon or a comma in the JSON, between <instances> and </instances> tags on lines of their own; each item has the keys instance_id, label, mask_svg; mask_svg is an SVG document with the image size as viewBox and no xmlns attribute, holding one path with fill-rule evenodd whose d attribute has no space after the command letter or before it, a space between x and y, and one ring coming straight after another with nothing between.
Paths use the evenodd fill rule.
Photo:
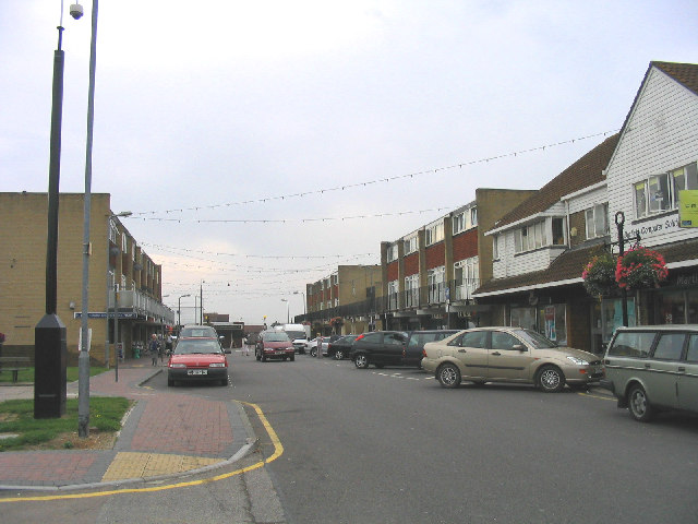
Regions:
<instances>
[{"instance_id":1,"label":"yellow line painted along the curved kerb","mask_svg":"<svg viewBox=\"0 0 698 524\"><path fill-rule=\"evenodd\" d=\"M256 464L253 464L253 465L248 466L248 467L243 467L241 469L236 469L234 472L225 473L222 475L216 475L215 477L203 478L201 480L191 480L191 481L188 481L188 483L168 484L168 485L165 485L165 486L153 486L153 487L149 487L149 488L112 489L112 490L109 490L109 491L97 491L97 492L93 492L93 493L47 495L47 496L39 496L39 497L12 497L12 498L7 498L7 499L1 499L0 498L0 503L2 503L2 502L36 502L36 501L68 500L68 499L91 499L91 498L94 498L94 497L108 497L108 496L111 496L111 495L121 495L121 493L153 493L153 492L156 492L156 491L165 491L165 490L168 490L168 489L188 488L190 486L201 486L203 484L216 483L218 480L225 480L226 478L234 477L236 475L240 475L242 473L251 472L253 469L258 469L260 467L263 467L265 464L274 462L279 456L281 456L281 454L284 453L284 446L281 445L281 442L279 441L279 438L277 437L276 431L274 431L274 428L272 428L272 425L269 424L269 421L264 416L264 413L262 412L260 406L257 406L256 404L252 404L250 402L240 401L240 403L241 404L245 404L245 405L254 408L254 410L257 414L257 417L260 417L260 420L262 421L262 425L264 426L264 429L266 430L267 434L269 436L269 439L272 440L272 443L274 444L274 453L268 458L266 458L264 461L260 461Z\"/></svg>"}]
</instances>

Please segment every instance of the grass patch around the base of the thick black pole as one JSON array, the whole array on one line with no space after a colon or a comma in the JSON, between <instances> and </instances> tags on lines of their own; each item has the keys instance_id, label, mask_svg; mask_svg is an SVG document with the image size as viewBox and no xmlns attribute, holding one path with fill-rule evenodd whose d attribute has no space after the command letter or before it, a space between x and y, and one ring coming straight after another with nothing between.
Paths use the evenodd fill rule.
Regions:
<instances>
[{"instance_id":1,"label":"grass patch around the base of the thick black pole","mask_svg":"<svg viewBox=\"0 0 698 524\"><path fill-rule=\"evenodd\" d=\"M89 397L89 428L103 433L121 429L121 420L132 401L121 396ZM65 415L61 418L34 418L34 400L0 403L0 433L16 437L0 439L1 451L26 449L70 449L74 440L68 438L77 431L77 398L68 398ZM52 442L52 444L49 444Z\"/></svg>"}]
</instances>

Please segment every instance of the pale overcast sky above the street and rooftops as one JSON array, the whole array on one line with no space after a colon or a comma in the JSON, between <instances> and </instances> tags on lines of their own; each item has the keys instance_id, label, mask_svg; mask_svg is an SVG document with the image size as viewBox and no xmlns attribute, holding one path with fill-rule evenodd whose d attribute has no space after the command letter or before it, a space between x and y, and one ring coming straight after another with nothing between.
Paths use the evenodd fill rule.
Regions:
<instances>
[{"instance_id":1,"label":"pale overcast sky above the street and rooftops","mask_svg":"<svg viewBox=\"0 0 698 524\"><path fill-rule=\"evenodd\" d=\"M70 3L60 190L84 192L92 2ZM0 191L47 191L60 17L0 1ZM172 309L203 286L207 311L284 322L476 188L543 186L651 60L698 60L697 26L695 0L101 0L92 190L134 213Z\"/></svg>"}]
</instances>

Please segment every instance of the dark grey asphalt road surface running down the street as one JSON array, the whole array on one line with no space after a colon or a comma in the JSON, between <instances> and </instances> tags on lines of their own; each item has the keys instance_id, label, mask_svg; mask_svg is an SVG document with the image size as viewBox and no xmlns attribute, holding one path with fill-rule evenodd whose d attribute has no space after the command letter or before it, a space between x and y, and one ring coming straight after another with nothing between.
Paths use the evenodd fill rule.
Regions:
<instances>
[{"instance_id":1,"label":"dark grey asphalt road surface running down the street","mask_svg":"<svg viewBox=\"0 0 698 524\"><path fill-rule=\"evenodd\" d=\"M697 417L641 425L603 394L452 391L305 356L232 362L233 396L284 445L267 468L289 522L698 522Z\"/></svg>"}]
</instances>

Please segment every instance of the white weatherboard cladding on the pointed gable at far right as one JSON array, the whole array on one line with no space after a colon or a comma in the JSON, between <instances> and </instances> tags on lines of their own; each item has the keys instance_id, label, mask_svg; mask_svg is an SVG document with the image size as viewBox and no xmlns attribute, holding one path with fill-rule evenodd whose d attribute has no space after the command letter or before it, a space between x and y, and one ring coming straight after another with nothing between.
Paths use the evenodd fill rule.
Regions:
<instances>
[{"instance_id":1,"label":"white weatherboard cladding on the pointed gable at far right","mask_svg":"<svg viewBox=\"0 0 698 524\"><path fill-rule=\"evenodd\" d=\"M698 159L698 96L652 68L639 93L609 165L609 215L625 214L626 236L640 234L643 246L686 240L698 229L679 228L678 213L635 221L634 183Z\"/></svg>"}]
</instances>

